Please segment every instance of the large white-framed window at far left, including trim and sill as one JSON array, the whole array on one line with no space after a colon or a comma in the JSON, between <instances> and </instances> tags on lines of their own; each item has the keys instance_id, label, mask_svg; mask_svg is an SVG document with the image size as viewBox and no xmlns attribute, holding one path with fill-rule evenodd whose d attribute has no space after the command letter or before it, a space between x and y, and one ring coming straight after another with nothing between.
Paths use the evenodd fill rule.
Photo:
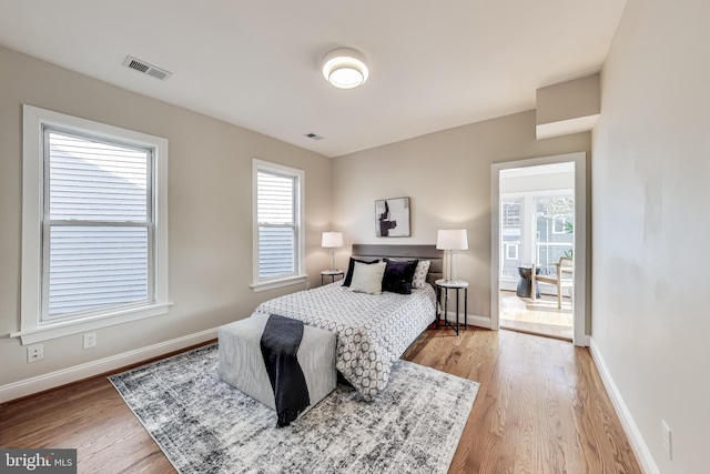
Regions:
<instances>
[{"instance_id":1,"label":"large white-framed window at far left, including trim and sill","mask_svg":"<svg viewBox=\"0 0 710 474\"><path fill-rule=\"evenodd\" d=\"M24 105L21 330L168 312L168 141Z\"/></svg>"}]
</instances>

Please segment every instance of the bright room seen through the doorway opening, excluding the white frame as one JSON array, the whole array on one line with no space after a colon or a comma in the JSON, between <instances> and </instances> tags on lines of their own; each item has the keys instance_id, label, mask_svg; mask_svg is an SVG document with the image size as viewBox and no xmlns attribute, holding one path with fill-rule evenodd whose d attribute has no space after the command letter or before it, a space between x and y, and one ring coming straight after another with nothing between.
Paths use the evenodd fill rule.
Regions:
<instances>
[{"instance_id":1,"label":"bright room seen through the doorway opening, excluding the white frame","mask_svg":"<svg viewBox=\"0 0 710 474\"><path fill-rule=\"evenodd\" d=\"M499 180L500 327L571 341L574 272L564 270L574 255L575 163L501 170Z\"/></svg>"}]
</instances>

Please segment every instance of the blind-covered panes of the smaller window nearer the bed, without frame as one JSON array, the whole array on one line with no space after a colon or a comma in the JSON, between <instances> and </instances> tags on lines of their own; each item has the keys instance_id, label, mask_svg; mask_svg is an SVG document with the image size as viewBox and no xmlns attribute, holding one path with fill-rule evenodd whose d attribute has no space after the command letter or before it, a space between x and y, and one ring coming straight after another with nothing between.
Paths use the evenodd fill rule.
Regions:
<instances>
[{"instance_id":1,"label":"blind-covered panes of the smaller window nearer the bed, without frame","mask_svg":"<svg viewBox=\"0 0 710 474\"><path fill-rule=\"evenodd\" d=\"M290 276L298 268L298 179L257 172L258 280Z\"/></svg>"}]
</instances>

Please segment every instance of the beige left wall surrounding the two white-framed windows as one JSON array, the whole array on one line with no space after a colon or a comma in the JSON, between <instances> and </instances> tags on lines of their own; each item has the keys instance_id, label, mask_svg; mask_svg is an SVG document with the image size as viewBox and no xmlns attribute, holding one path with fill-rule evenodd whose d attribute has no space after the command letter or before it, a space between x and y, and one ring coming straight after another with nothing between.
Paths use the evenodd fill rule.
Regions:
<instances>
[{"instance_id":1,"label":"beige left wall surrounding the two white-framed windows","mask_svg":"<svg viewBox=\"0 0 710 474\"><path fill-rule=\"evenodd\" d=\"M146 78L146 80L152 80ZM267 137L118 89L0 48L0 387L248 316L263 300L300 286L254 293L252 158L305 170L306 270L327 266L321 232L329 225L331 160ZM170 141L170 295L164 316L44 343L27 363L19 330L22 103L164 137Z\"/></svg>"}]
</instances>

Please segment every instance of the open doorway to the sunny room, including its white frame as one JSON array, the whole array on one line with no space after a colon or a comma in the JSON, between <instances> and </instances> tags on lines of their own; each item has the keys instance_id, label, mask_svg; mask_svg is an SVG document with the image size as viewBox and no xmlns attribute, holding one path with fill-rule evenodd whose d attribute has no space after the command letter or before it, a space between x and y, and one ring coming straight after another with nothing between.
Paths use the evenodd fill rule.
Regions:
<instances>
[{"instance_id":1,"label":"open doorway to the sunny room, including its white frame","mask_svg":"<svg viewBox=\"0 0 710 474\"><path fill-rule=\"evenodd\" d=\"M493 329L588 344L585 167L585 153L491 167Z\"/></svg>"}]
</instances>

